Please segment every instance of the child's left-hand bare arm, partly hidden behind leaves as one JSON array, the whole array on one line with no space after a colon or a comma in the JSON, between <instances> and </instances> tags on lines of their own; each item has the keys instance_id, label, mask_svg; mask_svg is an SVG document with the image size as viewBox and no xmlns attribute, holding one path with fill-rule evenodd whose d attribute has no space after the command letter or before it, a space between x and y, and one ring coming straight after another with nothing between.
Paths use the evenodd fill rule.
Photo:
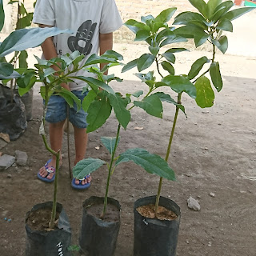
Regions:
<instances>
[{"instance_id":1,"label":"child's left-hand bare arm, partly hidden behind leaves","mask_svg":"<svg viewBox=\"0 0 256 256\"><path fill-rule=\"evenodd\" d=\"M52 27L52 26L39 24L39 27L44 28L44 27ZM54 46L53 38L46 38L46 41L42 43L41 47L42 47L43 55L46 59L49 60L51 58L58 57L56 48ZM51 67L56 71L59 70L58 66L51 66ZM62 83L61 86L66 90L70 90L70 86L68 86L66 83Z\"/></svg>"}]
</instances>

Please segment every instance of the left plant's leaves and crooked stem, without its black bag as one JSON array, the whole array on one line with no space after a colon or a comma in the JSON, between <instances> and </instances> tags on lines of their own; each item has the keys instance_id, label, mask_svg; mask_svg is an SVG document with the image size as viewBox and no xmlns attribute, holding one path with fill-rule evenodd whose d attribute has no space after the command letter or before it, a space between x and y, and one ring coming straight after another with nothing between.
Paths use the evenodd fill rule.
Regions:
<instances>
[{"instance_id":1,"label":"left plant's leaves and crooked stem, without its black bag","mask_svg":"<svg viewBox=\"0 0 256 256\"><path fill-rule=\"evenodd\" d=\"M110 58L111 57L111 58ZM70 92L70 90L64 89L60 84L62 82L69 83L74 82L74 79L79 79L86 82L91 88L92 91L104 90L105 92L109 92L110 94L114 94L114 91L110 88L110 86L106 85L106 83L99 81L98 79L84 76L75 76L74 74L78 72L78 70L85 69L88 66L92 66L101 62L110 62L111 65L115 65L118 63L118 58L115 58L114 55L110 54L102 54L98 57L96 54L93 54L86 60L86 62L81 65L85 56L80 54L78 51L73 52L72 54L62 55L60 58L52 58L50 60L43 60L41 58L35 57L38 60L38 64L35 64L35 69L17 69L18 73L21 75L17 79L18 83L18 91L19 94L26 94L32 86L34 86L35 82L42 82L42 86L40 88L40 94L44 100L43 106L43 114L42 114L42 123L40 126L39 134L42 135L43 142L46 146L46 150L48 150L51 154L56 157L56 171L54 178L54 197L53 197L53 208L50 219L49 227L50 229L54 228L54 222L56 217L56 207L57 207L57 191L58 191L58 170L59 170L59 159L60 159L60 151L56 152L50 148L46 140L45 134L45 115L47 104L50 98L50 95L56 94L61 96L66 100L70 107L74 107L74 102L76 104L77 110L81 108L80 100ZM58 71L54 70L54 66L58 67ZM90 68L92 69L92 68Z\"/></svg>"}]
</instances>

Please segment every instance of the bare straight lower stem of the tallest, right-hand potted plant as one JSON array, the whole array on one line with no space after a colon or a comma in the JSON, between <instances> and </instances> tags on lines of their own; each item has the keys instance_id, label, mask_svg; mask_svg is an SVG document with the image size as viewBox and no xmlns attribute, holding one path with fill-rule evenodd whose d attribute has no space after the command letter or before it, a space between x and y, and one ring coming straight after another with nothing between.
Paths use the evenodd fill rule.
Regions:
<instances>
[{"instance_id":1,"label":"bare straight lower stem of the tallest, right-hand potted plant","mask_svg":"<svg viewBox=\"0 0 256 256\"><path fill-rule=\"evenodd\" d=\"M182 93L179 93L178 94L178 104L182 104ZM169 156L170 156L170 146L171 146L171 143L173 141L173 138L174 138L174 130L175 130L175 126L176 126L176 122L177 122L177 118L178 118L178 110L179 110L179 107L176 106L176 111L175 111L175 116L174 116L174 123L173 123L173 127L172 127L172 130L171 130L171 133L170 133L170 139L169 139L169 144L168 144L168 147L167 147L167 150L166 150L166 162L168 162L168 159L169 159ZM160 200L160 194L161 194L161 190L162 190L162 177L160 178L160 181L159 181L159 184L158 184L158 194L157 194L157 198L156 198L156 201L155 201L155 206L154 206L154 215L156 218L158 218L158 206L159 206L159 200Z\"/></svg>"}]
</instances>

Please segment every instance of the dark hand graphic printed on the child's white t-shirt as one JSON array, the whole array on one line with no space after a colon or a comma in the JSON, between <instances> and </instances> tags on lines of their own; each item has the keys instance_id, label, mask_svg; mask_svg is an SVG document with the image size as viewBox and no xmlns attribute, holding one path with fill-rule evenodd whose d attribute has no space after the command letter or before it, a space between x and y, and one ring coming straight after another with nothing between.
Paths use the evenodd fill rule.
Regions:
<instances>
[{"instance_id":1,"label":"dark hand graphic printed on the child's white t-shirt","mask_svg":"<svg viewBox=\"0 0 256 256\"><path fill-rule=\"evenodd\" d=\"M90 42L94 36L96 26L97 23L93 23L91 20L83 22L82 25L79 26L76 36L68 38L67 45L70 50L78 50L80 54L90 54L92 48L92 44Z\"/></svg>"}]
</instances>

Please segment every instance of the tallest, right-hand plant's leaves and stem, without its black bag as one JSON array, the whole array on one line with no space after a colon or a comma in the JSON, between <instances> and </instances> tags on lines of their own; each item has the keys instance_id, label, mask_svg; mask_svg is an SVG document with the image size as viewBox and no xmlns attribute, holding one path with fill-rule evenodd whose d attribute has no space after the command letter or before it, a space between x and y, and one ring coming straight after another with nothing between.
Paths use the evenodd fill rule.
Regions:
<instances>
[{"instance_id":1,"label":"tallest, right-hand plant's leaves and stem, without its black bag","mask_svg":"<svg viewBox=\"0 0 256 256\"><path fill-rule=\"evenodd\" d=\"M177 94L177 101L171 98L169 94L161 91L151 94L150 97L153 99L154 96L154 101L152 100L150 102L150 110L146 105L134 103L136 106L142 107L149 114L153 111L152 109L158 109L159 100L170 102L176 107L174 122L166 150L166 162L168 162L170 156L170 146L174 138L178 111L182 110L185 113L185 108L182 106L182 94L186 93L191 98L194 98L198 106L202 108L213 106L214 90L212 89L212 85L218 92L222 90L222 76L219 63L215 60L216 49L218 48L218 50L225 54L228 47L228 40L226 35L223 34L223 31L232 32L233 26L231 21L240 17L242 14L246 14L250 10L254 10L253 7L230 10L234 6L234 2L232 1L209 0L207 3L203 0L189 1L199 12L186 11L178 14L174 18L173 23L173 25L179 25L178 28L167 24L174 15L176 8L163 10L156 18L148 15L142 17L141 22L130 19L125 23L136 34L134 41L144 41L149 45L149 53L142 54L139 58L127 63L123 67L122 72L134 67L137 67L138 71L141 72L155 64L155 70L161 77L160 81L156 81L154 71L150 71L147 74L136 74L138 78L150 87L150 94L154 90L161 89L162 86L170 87ZM206 42L210 43L212 45L212 58L209 59L206 56L198 58L191 66L188 74L176 74L174 70L176 57L174 54L186 49L170 47L166 50L166 46L173 43L186 42L187 38L194 38L196 47ZM210 74L210 78L206 76L207 74ZM145 101L142 100L142 102ZM158 194L154 207L156 218L158 218L158 204L163 178L161 177L159 181Z\"/></svg>"}]
</instances>

